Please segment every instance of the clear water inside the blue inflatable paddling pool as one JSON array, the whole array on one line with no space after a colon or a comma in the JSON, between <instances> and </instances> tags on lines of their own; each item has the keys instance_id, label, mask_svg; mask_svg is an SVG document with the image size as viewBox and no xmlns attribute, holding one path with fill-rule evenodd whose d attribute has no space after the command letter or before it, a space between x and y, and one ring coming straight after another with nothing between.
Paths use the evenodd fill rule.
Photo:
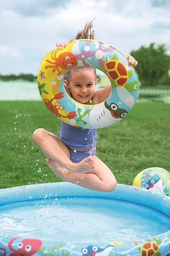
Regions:
<instances>
[{"instance_id":1,"label":"clear water inside the blue inflatable paddling pool","mask_svg":"<svg viewBox=\"0 0 170 256\"><path fill-rule=\"evenodd\" d=\"M107 198L53 198L1 207L1 234L56 244L137 241L170 229L170 218L140 204Z\"/></svg>"}]
</instances>

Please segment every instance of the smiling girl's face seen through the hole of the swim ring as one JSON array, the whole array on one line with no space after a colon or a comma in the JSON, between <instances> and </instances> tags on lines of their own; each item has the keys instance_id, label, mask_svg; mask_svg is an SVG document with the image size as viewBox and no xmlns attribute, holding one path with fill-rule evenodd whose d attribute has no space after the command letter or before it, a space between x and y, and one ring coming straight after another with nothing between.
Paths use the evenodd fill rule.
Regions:
<instances>
[{"instance_id":1,"label":"smiling girl's face seen through the hole of the swim ring","mask_svg":"<svg viewBox=\"0 0 170 256\"><path fill-rule=\"evenodd\" d=\"M64 81L71 91L72 97L82 104L89 104L97 82L98 79L95 77L94 70L90 68L71 70L69 82Z\"/></svg>"}]
</instances>

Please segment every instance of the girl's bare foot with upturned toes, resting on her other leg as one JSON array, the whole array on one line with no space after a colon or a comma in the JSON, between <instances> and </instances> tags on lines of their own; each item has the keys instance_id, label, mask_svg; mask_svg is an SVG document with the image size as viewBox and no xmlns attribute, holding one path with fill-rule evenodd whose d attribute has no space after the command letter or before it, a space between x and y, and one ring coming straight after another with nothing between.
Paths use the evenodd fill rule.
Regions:
<instances>
[{"instance_id":1,"label":"girl's bare foot with upturned toes, resting on her other leg","mask_svg":"<svg viewBox=\"0 0 170 256\"><path fill-rule=\"evenodd\" d=\"M72 166L68 166L69 172L74 173L87 173L93 170L94 168L94 159L92 156L86 157L79 163L73 163Z\"/></svg>"}]
</instances>

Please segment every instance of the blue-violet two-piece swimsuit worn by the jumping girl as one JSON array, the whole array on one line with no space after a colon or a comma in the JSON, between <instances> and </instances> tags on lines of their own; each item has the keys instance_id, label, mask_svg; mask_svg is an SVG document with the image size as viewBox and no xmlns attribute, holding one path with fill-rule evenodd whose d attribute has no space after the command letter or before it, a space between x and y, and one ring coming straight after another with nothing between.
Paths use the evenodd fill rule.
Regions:
<instances>
[{"instance_id":1,"label":"blue-violet two-piece swimsuit worn by the jumping girl","mask_svg":"<svg viewBox=\"0 0 170 256\"><path fill-rule=\"evenodd\" d=\"M73 148L77 148L80 150L89 151L76 151L71 150L70 152L70 160L74 163L78 163L84 158L88 156L96 156L96 151L91 150L90 148L96 146L96 129L82 129L79 127L71 126L67 123L61 121L61 130L59 138L63 141L65 145Z\"/></svg>"}]
</instances>

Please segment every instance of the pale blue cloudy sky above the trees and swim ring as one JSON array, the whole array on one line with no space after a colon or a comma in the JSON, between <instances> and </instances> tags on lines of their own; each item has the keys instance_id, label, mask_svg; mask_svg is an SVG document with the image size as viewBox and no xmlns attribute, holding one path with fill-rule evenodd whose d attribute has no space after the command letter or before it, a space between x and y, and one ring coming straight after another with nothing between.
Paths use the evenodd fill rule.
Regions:
<instances>
[{"instance_id":1,"label":"pale blue cloudy sky above the trees and swim ring","mask_svg":"<svg viewBox=\"0 0 170 256\"><path fill-rule=\"evenodd\" d=\"M170 0L0 0L0 74L36 75L93 18L95 39L124 54L151 42L170 54Z\"/></svg>"}]
</instances>

